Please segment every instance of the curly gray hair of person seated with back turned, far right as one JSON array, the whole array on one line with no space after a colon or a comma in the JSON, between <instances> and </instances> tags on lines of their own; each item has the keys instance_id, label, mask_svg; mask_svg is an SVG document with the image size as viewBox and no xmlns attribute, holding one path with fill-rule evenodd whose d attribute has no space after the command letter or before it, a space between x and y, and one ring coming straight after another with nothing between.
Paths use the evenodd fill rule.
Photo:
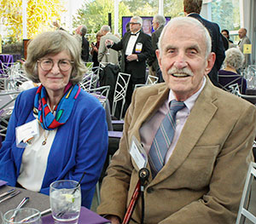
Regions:
<instances>
[{"instance_id":1,"label":"curly gray hair of person seated with back turned, far right","mask_svg":"<svg viewBox=\"0 0 256 224\"><path fill-rule=\"evenodd\" d=\"M238 70L243 65L244 55L240 49L231 48L225 51L224 66L230 66Z\"/></svg>"}]
</instances>

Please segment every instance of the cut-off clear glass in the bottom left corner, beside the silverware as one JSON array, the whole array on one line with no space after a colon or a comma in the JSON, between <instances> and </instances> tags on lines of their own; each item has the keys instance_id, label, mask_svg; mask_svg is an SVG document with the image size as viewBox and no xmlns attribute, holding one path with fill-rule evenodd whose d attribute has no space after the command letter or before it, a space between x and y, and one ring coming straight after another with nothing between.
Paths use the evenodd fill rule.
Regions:
<instances>
[{"instance_id":1,"label":"cut-off clear glass in the bottom left corner, beside the silverware","mask_svg":"<svg viewBox=\"0 0 256 224\"><path fill-rule=\"evenodd\" d=\"M41 224L41 213L38 210L24 208L9 210L3 215L3 224Z\"/></svg>"}]
</instances>

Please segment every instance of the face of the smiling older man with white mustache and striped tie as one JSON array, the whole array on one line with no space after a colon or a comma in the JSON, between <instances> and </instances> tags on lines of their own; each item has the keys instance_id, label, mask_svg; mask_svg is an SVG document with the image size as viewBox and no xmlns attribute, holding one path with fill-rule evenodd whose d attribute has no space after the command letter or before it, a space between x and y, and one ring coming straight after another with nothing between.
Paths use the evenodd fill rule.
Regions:
<instances>
[{"instance_id":1,"label":"face of the smiling older man with white mustache and striped tie","mask_svg":"<svg viewBox=\"0 0 256 224\"><path fill-rule=\"evenodd\" d=\"M186 31L190 32L186 32ZM194 95L202 85L203 77L211 71L215 55L206 59L206 41L197 27L168 27L157 57L167 86L178 101Z\"/></svg>"}]
</instances>

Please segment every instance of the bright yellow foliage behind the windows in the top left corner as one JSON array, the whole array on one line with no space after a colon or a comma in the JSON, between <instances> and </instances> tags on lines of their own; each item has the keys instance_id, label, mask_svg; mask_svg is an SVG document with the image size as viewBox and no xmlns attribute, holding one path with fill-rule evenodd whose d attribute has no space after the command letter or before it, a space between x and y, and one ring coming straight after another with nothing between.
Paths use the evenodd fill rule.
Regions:
<instances>
[{"instance_id":1,"label":"bright yellow foliage behind the windows in the top left corner","mask_svg":"<svg viewBox=\"0 0 256 224\"><path fill-rule=\"evenodd\" d=\"M61 0L26 0L26 33L31 39L40 32L49 31L52 21L61 18L67 11ZM22 31L22 0L0 0L1 24L5 28L9 43L20 42Z\"/></svg>"}]
</instances>

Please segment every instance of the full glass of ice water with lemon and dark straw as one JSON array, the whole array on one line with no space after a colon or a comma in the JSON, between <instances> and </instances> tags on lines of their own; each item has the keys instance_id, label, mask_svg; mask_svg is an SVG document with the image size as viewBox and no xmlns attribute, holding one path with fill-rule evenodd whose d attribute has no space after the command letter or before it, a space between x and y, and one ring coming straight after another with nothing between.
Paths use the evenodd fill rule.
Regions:
<instances>
[{"instance_id":1,"label":"full glass of ice water with lemon and dark straw","mask_svg":"<svg viewBox=\"0 0 256 224\"><path fill-rule=\"evenodd\" d=\"M55 181L49 186L49 204L55 223L76 224L81 208L78 181Z\"/></svg>"}]
</instances>

